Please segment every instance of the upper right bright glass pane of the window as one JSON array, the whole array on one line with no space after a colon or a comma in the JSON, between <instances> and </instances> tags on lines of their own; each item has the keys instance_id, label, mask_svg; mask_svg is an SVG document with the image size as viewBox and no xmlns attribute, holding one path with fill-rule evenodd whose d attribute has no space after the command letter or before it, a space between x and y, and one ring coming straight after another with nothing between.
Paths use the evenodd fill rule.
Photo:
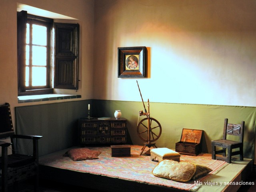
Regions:
<instances>
[{"instance_id":1,"label":"upper right bright glass pane of the window","mask_svg":"<svg viewBox=\"0 0 256 192\"><path fill-rule=\"evenodd\" d=\"M47 28L40 25L32 25L32 44L47 45Z\"/></svg>"}]
</instances>

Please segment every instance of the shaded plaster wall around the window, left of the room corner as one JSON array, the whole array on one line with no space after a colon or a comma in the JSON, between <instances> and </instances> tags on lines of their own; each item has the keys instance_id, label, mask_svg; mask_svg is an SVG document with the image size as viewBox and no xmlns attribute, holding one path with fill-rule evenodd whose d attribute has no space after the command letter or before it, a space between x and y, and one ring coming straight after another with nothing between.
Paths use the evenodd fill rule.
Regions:
<instances>
[{"instance_id":1,"label":"shaded plaster wall around the window, left of the room corner","mask_svg":"<svg viewBox=\"0 0 256 192\"><path fill-rule=\"evenodd\" d=\"M82 95L82 98L72 99L72 101L92 99L94 1L0 0L0 104L9 102L14 116L14 107L16 106L70 101L55 100L18 104L17 3L26 4L77 19L73 22L78 22L80 24L79 90L77 92L76 90L65 90L63 93ZM61 22L60 20L57 21Z\"/></svg>"}]
</instances>

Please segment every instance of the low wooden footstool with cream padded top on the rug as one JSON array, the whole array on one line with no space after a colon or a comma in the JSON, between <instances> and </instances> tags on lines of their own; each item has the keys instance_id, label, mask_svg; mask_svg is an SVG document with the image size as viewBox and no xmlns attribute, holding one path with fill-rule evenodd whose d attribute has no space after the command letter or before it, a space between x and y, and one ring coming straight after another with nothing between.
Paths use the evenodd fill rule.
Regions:
<instances>
[{"instance_id":1,"label":"low wooden footstool with cream padded top on the rug","mask_svg":"<svg viewBox=\"0 0 256 192\"><path fill-rule=\"evenodd\" d=\"M150 150L150 159L158 160L158 162L169 159L180 162L180 154L168 148L155 148Z\"/></svg>"}]
</instances>

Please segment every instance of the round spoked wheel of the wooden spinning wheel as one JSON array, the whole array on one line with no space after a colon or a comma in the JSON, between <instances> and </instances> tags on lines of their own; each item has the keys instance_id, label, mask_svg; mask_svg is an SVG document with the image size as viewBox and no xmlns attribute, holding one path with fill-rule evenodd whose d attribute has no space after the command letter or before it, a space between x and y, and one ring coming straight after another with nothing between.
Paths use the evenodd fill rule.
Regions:
<instances>
[{"instance_id":1,"label":"round spoked wheel of the wooden spinning wheel","mask_svg":"<svg viewBox=\"0 0 256 192\"><path fill-rule=\"evenodd\" d=\"M154 142L158 140L158 138L160 137L162 133L162 127L160 123L152 117L150 117L149 127L148 125L146 125L147 123L148 123L148 118L144 118L139 122L137 126L138 136L145 142ZM150 138L148 138L148 132L149 132Z\"/></svg>"}]
</instances>

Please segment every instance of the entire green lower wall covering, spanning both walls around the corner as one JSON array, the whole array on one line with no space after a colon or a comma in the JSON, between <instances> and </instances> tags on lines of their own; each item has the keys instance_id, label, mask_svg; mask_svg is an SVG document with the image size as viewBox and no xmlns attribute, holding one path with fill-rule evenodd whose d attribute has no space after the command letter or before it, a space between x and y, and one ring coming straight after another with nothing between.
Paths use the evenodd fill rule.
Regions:
<instances>
[{"instance_id":1,"label":"entire green lower wall covering, spanning both walls around the corner","mask_svg":"<svg viewBox=\"0 0 256 192\"><path fill-rule=\"evenodd\" d=\"M139 111L144 110L142 102L113 100L83 100L16 107L16 132L38 134L40 155L48 154L78 144L79 118L87 117L88 104L91 116L114 117L115 110L121 110L128 120L128 143L143 145L137 134ZM148 103L145 102L147 107ZM211 140L222 137L224 118L231 123L245 121L244 155L254 156L256 108L244 106L216 106L198 104L172 104L150 102L150 116L162 126L162 134L156 140L157 147L174 149L180 141L183 128L204 130L202 152L211 153ZM20 144L21 148L22 145Z\"/></svg>"}]
</instances>

